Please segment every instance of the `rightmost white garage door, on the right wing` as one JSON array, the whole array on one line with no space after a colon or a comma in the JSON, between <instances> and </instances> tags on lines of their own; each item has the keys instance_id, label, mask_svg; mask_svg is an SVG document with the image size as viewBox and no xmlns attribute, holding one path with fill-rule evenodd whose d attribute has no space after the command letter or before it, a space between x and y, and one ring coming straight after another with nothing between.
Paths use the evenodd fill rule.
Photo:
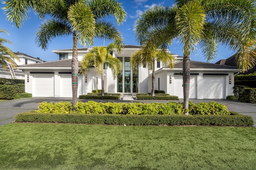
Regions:
<instances>
[{"instance_id":1,"label":"rightmost white garage door, on the right wing","mask_svg":"<svg viewBox=\"0 0 256 170\"><path fill-rule=\"evenodd\" d=\"M202 93L204 99L225 99L225 76L204 76Z\"/></svg>"}]
</instances>

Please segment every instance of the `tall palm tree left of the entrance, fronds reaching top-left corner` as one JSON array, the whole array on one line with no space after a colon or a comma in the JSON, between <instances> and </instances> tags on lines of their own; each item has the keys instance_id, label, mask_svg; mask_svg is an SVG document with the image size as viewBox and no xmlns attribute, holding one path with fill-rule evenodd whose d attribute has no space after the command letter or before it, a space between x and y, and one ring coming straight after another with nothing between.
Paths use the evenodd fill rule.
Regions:
<instances>
[{"instance_id":1,"label":"tall palm tree left of the entrance, fronds reaching top-left corner","mask_svg":"<svg viewBox=\"0 0 256 170\"><path fill-rule=\"evenodd\" d=\"M52 39L57 36L73 36L72 54L72 97L73 110L78 90L78 51L77 43L92 45L95 37L114 40L118 50L122 49L123 38L118 29L104 20L114 16L119 25L126 20L126 12L116 0L7 0L3 8L11 24L19 28L28 18L32 9L39 18L48 15L36 33L38 46L46 50Z\"/></svg>"}]
</instances>

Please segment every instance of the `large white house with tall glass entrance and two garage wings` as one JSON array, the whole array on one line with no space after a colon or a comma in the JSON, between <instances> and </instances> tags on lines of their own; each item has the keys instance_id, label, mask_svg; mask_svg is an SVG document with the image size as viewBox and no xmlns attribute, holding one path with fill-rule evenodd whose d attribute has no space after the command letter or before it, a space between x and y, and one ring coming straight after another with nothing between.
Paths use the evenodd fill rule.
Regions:
<instances>
[{"instance_id":1,"label":"large white house with tall glass entrance and two garage wings","mask_svg":"<svg viewBox=\"0 0 256 170\"><path fill-rule=\"evenodd\" d=\"M91 49L79 48L78 60L81 61ZM117 57L122 63L122 73L113 79L111 70L105 65L105 92L151 93L152 71L141 65L137 74L132 72L130 57L138 49L140 46L124 45L121 53L117 50L112 52L113 57ZM32 93L33 97L72 97L72 49L53 52L59 55L60 60L18 67L25 71L25 91ZM162 67L161 63L156 61L156 90L164 90L170 95L183 98L183 83L180 75L182 57L173 56L176 62L173 69ZM227 95L233 95L234 74L238 72L237 67L191 61L190 98L226 99ZM94 89L101 89L101 75L91 67L86 75L78 76L78 96L90 93Z\"/></svg>"}]
</instances>

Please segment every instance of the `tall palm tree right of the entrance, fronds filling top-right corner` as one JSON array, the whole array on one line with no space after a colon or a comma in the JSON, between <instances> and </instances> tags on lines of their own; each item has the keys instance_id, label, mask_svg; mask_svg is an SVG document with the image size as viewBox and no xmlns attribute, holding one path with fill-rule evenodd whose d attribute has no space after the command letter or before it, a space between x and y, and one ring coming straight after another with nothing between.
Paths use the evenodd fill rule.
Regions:
<instances>
[{"instance_id":1,"label":"tall palm tree right of the entrance, fronds filling top-right corner","mask_svg":"<svg viewBox=\"0 0 256 170\"><path fill-rule=\"evenodd\" d=\"M236 53L238 68L245 71L256 60L255 24L254 0L176 0L172 7L157 6L144 12L136 21L135 33L138 42L148 41L148 34L155 42L180 39L184 114L188 115L190 53L199 44L204 57L211 61L220 43Z\"/></svg>"}]
</instances>

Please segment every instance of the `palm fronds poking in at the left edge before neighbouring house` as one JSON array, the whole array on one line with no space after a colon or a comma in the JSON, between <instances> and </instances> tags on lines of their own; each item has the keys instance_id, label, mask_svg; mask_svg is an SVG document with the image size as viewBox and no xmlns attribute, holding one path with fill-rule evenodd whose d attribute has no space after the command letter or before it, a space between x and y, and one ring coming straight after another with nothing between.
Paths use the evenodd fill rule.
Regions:
<instances>
[{"instance_id":1,"label":"palm fronds poking in at the left edge before neighbouring house","mask_svg":"<svg viewBox=\"0 0 256 170\"><path fill-rule=\"evenodd\" d=\"M4 32L8 34L6 30L0 29L0 33ZM4 43L12 43L10 40L6 40L5 38L0 38L0 65L7 70L7 66L10 64L14 68L16 68L16 63L14 59L17 59L20 61L20 59L17 57L17 55L12 52L12 50L6 46L4 46ZM4 55L9 55L10 57L6 57Z\"/></svg>"}]
</instances>

